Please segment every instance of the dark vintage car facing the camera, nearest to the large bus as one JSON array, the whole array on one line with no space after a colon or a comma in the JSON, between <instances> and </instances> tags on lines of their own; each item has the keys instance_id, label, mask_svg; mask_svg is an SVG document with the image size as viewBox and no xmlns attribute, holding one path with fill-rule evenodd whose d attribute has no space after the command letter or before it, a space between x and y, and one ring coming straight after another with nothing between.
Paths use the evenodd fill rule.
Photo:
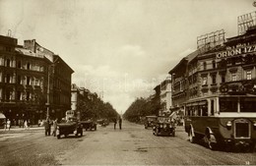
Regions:
<instances>
[{"instance_id":1,"label":"dark vintage car facing the camera, nearest to the large bus","mask_svg":"<svg viewBox=\"0 0 256 166\"><path fill-rule=\"evenodd\" d=\"M159 116L153 127L153 135L155 136L175 136L175 125L169 117Z\"/></svg>"}]
</instances>

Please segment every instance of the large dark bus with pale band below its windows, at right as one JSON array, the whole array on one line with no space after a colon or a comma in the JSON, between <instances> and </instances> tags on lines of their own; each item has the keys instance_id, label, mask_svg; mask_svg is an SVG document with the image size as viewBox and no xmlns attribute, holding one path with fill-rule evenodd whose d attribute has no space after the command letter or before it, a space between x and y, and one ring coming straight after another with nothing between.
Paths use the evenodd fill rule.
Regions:
<instances>
[{"instance_id":1,"label":"large dark bus with pale band below its windows, at right","mask_svg":"<svg viewBox=\"0 0 256 166\"><path fill-rule=\"evenodd\" d=\"M203 139L209 148L236 145L253 150L256 142L256 95L216 95L185 103L189 140Z\"/></svg>"}]
</instances>

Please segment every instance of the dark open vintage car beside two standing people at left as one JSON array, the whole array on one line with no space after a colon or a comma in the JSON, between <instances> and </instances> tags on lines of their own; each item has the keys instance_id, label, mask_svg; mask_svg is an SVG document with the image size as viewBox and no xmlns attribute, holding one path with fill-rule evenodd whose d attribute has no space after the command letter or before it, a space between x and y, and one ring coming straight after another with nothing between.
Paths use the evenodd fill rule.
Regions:
<instances>
[{"instance_id":1,"label":"dark open vintage car beside two standing people at left","mask_svg":"<svg viewBox=\"0 0 256 166\"><path fill-rule=\"evenodd\" d=\"M56 132L57 138L61 138L62 135L68 137L72 134L76 137L80 134L83 137L83 125L77 120L61 121L57 124Z\"/></svg>"}]
</instances>

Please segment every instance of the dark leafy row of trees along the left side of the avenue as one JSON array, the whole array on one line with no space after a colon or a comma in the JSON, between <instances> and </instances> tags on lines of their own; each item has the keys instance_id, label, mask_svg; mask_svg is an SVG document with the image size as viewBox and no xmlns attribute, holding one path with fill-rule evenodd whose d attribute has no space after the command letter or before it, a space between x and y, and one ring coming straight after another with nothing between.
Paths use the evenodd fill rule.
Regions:
<instances>
[{"instance_id":1,"label":"dark leafy row of trees along the left side of the avenue","mask_svg":"<svg viewBox=\"0 0 256 166\"><path fill-rule=\"evenodd\" d=\"M78 96L77 110L82 120L86 119L108 119L112 120L118 116L116 110L109 102L103 102L96 93L85 92Z\"/></svg>"}]
</instances>

